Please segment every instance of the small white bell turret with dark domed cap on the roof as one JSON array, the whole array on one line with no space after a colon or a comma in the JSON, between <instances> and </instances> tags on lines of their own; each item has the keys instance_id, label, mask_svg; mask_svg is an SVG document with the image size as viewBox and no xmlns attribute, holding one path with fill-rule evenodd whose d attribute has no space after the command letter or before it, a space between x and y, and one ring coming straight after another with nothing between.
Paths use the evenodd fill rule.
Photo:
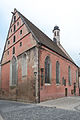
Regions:
<instances>
[{"instance_id":1,"label":"small white bell turret with dark domed cap on the roof","mask_svg":"<svg viewBox=\"0 0 80 120\"><path fill-rule=\"evenodd\" d=\"M60 29L59 29L58 26L55 26L55 27L54 27L53 33L54 33L53 41L54 41L57 45L60 45Z\"/></svg>"}]
</instances>

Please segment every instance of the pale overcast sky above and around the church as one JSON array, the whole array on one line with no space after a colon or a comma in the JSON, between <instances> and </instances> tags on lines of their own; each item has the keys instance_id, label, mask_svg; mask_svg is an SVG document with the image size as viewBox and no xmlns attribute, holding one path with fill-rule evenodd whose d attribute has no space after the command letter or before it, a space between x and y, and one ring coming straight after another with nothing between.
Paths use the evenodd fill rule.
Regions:
<instances>
[{"instance_id":1,"label":"pale overcast sky above and around the church","mask_svg":"<svg viewBox=\"0 0 80 120\"><path fill-rule=\"evenodd\" d=\"M80 0L0 0L0 58L14 8L51 39L58 25L60 43L80 66Z\"/></svg>"}]
</instances>

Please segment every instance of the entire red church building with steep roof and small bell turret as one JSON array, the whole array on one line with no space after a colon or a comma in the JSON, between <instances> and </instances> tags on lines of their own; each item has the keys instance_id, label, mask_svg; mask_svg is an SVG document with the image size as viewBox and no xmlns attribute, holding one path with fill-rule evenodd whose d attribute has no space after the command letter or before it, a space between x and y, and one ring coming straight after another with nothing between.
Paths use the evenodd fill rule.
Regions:
<instances>
[{"instance_id":1,"label":"entire red church building with steep roof and small bell turret","mask_svg":"<svg viewBox=\"0 0 80 120\"><path fill-rule=\"evenodd\" d=\"M0 98L41 102L79 95L78 66L60 44L18 10L12 19L0 64Z\"/></svg>"}]
</instances>

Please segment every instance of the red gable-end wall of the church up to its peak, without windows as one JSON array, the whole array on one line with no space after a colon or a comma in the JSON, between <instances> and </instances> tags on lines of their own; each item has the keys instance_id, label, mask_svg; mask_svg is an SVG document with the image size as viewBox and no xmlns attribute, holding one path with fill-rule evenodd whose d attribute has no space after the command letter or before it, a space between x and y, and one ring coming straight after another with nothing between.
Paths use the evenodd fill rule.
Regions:
<instances>
[{"instance_id":1,"label":"red gable-end wall of the church up to its peak, without windows","mask_svg":"<svg viewBox=\"0 0 80 120\"><path fill-rule=\"evenodd\" d=\"M5 45L5 50L3 53L3 58L1 62L1 88L4 91L1 97L5 99L22 99L28 101L36 101L38 92L35 91L37 86L34 83L34 72L37 72L36 79L38 79L38 52L35 50L36 40L32 34L27 29L26 25L23 23L22 19L15 14L16 21L12 20L9 28L9 34ZM13 19L13 17L12 17ZM17 25L19 22L19 25ZM16 31L14 31L14 25L16 25ZM12 31L11 31L12 30ZM22 34L20 34L22 30ZM13 42L13 37L16 36L15 42ZM8 44L8 41L10 42ZM22 45L20 46L20 43ZM13 54L13 47L15 47L15 53ZM26 55L26 68L27 75L22 77L22 56ZM35 57L36 55L36 57ZM11 86L12 80L12 58L15 57L17 60L17 84L16 86ZM37 67L36 67L37 66ZM38 83L37 83L38 84ZM38 89L36 87L36 89ZM7 91L7 93L6 93ZM7 94L8 96L6 97Z\"/></svg>"}]
</instances>

